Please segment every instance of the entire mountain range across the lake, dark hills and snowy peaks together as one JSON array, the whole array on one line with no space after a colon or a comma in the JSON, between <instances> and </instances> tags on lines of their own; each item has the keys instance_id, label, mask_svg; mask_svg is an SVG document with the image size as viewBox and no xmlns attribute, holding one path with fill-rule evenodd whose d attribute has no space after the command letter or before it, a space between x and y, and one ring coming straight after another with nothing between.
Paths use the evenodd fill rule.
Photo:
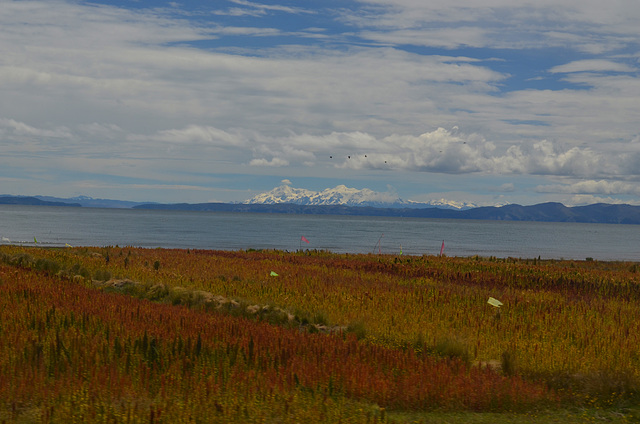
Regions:
<instances>
[{"instance_id":1,"label":"entire mountain range across the lake, dark hills and snowy peaks together","mask_svg":"<svg viewBox=\"0 0 640 424\"><path fill-rule=\"evenodd\" d=\"M407 202L389 193L381 194L368 189L357 190L345 186L314 192L283 185L243 203L163 204L93 199L86 196L63 199L48 196L0 195L0 204L640 225L640 206L599 203L567 207L561 203L549 202L530 206L507 204L472 207L466 203L446 201Z\"/></svg>"}]
</instances>

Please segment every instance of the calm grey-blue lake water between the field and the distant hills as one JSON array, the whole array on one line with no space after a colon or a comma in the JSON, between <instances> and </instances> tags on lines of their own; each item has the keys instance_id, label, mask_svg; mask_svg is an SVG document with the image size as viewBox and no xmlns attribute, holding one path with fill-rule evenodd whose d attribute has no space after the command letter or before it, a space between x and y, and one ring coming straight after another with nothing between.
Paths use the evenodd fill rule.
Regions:
<instances>
[{"instance_id":1,"label":"calm grey-blue lake water between the field and the distant hills","mask_svg":"<svg viewBox=\"0 0 640 424\"><path fill-rule=\"evenodd\" d=\"M302 241L302 236L310 243ZM640 225L0 205L0 243L640 261Z\"/></svg>"}]
</instances>

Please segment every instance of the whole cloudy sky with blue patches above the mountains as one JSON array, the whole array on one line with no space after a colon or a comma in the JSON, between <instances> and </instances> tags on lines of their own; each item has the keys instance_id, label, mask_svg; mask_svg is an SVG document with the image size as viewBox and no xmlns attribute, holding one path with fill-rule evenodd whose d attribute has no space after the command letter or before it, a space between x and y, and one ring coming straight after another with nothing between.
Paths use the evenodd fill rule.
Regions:
<instances>
[{"instance_id":1,"label":"whole cloudy sky with blue patches above the mountains","mask_svg":"<svg viewBox=\"0 0 640 424\"><path fill-rule=\"evenodd\" d=\"M0 0L0 194L640 204L637 0Z\"/></svg>"}]
</instances>

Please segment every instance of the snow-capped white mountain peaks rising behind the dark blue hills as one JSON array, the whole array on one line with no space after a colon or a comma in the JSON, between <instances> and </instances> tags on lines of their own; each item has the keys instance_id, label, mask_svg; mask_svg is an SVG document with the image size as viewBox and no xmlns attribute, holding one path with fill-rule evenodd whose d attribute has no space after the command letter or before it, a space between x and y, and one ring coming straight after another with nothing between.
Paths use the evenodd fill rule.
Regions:
<instances>
[{"instance_id":1,"label":"snow-capped white mountain peaks rising behind the dark blue hills","mask_svg":"<svg viewBox=\"0 0 640 424\"><path fill-rule=\"evenodd\" d=\"M313 191L294 188L283 184L271 191L258 194L244 201L245 204L293 203L296 205L345 205L345 206L373 206L382 208L424 208L437 207L442 209L469 209L474 207L470 203L448 202L440 199L434 202L419 203L402 200L390 192L376 192L368 188L357 189L345 185Z\"/></svg>"}]
</instances>

